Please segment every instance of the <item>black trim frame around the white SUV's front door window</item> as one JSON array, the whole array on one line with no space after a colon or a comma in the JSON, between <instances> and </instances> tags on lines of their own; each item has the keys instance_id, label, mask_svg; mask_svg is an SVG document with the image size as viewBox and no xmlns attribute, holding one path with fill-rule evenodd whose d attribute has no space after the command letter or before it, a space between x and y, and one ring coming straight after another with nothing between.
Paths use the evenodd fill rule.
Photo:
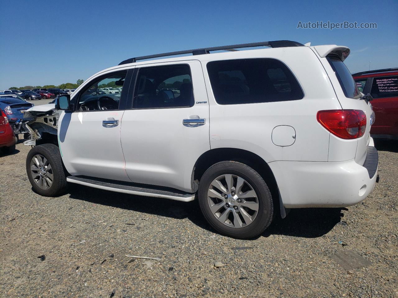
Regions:
<instances>
[{"instance_id":1,"label":"black trim frame around the white SUV's front door window","mask_svg":"<svg viewBox=\"0 0 398 298\"><path fill-rule=\"evenodd\" d=\"M127 103L127 93L129 92L129 87L131 84L131 77L133 75L134 68L127 68L123 70L115 70L114 72L107 72L106 74L99 75L97 77L94 77L90 81L88 81L87 84L84 85L82 89L79 90L79 92L74 95L73 99L71 100L71 103L74 104L74 110L72 112L107 112L107 111L120 111L120 110L126 110L126 103ZM108 77L109 75L117 75L117 74L122 74L126 72L126 77L125 77L125 83L122 88L122 93L120 94L120 100L119 100L119 107L115 110L88 110L88 111L80 111L78 110L78 100L80 98L80 95L82 94L82 91L86 91L87 88L89 87L94 81L97 81L98 79L103 79ZM128 87L127 85L128 84ZM105 96L105 95L104 95Z\"/></svg>"}]
</instances>

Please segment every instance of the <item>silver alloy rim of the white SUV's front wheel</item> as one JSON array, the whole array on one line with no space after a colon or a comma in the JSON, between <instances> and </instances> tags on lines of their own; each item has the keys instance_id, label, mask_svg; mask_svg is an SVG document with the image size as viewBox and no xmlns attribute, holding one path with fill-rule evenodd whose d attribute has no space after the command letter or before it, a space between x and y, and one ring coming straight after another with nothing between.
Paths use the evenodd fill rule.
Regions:
<instances>
[{"instance_id":1,"label":"silver alloy rim of the white SUV's front wheel","mask_svg":"<svg viewBox=\"0 0 398 298\"><path fill-rule=\"evenodd\" d=\"M33 156L30 162L33 181L43 190L48 190L54 181L54 173L50 162L41 154Z\"/></svg>"}]
</instances>

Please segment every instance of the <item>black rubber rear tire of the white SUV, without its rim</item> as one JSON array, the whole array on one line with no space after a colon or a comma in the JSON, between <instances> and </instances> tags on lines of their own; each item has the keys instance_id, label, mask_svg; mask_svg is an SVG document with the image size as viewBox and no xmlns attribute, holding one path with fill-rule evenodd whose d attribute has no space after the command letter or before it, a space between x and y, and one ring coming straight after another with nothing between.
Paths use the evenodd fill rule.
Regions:
<instances>
[{"instance_id":1,"label":"black rubber rear tire of the white SUV, without its rim","mask_svg":"<svg viewBox=\"0 0 398 298\"><path fill-rule=\"evenodd\" d=\"M237 175L252 186L258 196L258 213L252 223L240 228L233 228L221 223L211 212L207 202L207 192L213 180L223 174ZM273 219L273 201L264 179L250 166L236 161L221 161L213 164L203 174L198 191L199 206L205 219L215 230L225 236L238 239L254 238L261 234Z\"/></svg>"}]
</instances>

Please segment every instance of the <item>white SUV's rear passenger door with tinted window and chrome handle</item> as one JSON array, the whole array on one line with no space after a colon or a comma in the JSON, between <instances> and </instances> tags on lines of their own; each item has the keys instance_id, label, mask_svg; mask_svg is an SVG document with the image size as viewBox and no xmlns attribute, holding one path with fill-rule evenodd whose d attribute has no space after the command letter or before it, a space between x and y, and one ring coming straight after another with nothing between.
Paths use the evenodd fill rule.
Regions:
<instances>
[{"instance_id":1,"label":"white SUV's rear passenger door with tinted window and chrome handle","mask_svg":"<svg viewBox=\"0 0 398 298\"><path fill-rule=\"evenodd\" d=\"M132 182L191 192L191 173L210 150L209 104L201 63L137 66L121 143Z\"/></svg>"}]
</instances>

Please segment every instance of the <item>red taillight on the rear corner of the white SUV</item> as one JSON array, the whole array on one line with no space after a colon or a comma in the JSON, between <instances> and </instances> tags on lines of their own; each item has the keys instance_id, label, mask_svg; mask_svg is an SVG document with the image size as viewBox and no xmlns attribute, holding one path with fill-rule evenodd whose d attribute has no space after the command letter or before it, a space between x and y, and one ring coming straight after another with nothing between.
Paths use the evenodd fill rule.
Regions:
<instances>
[{"instance_id":1,"label":"red taillight on the rear corner of the white SUV","mask_svg":"<svg viewBox=\"0 0 398 298\"><path fill-rule=\"evenodd\" d=\"M341 139L356 139L366 130L366 115L361 110L319 111L316 120Z\"/></svg>"}]
</instances>

